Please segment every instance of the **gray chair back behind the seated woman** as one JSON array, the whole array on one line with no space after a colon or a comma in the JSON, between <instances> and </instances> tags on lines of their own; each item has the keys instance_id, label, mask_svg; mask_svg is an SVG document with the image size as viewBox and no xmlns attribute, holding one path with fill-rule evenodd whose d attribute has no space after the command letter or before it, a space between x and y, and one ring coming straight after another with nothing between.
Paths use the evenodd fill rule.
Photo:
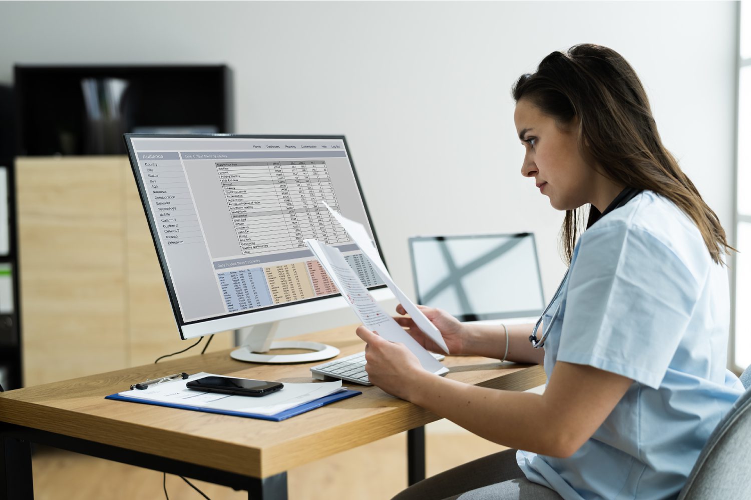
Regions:
<instances>
[{"instance_id":1,"label":"gray chair back behind the seated woman","mask_svg":"<svg viewBox=\"0 0 751 500\"><path fill-rule=\"evenodd\" d=\"M751 499L751 367L746 388L712 432L678 500Z\"/></svg>"}]
</instances>

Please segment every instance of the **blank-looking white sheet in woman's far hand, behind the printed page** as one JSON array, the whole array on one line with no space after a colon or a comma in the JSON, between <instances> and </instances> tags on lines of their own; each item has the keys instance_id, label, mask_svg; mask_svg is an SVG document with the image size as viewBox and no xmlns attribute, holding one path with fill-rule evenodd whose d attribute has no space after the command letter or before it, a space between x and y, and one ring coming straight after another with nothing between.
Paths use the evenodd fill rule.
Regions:
<instances>
[{"instance_id":1,"label":"blank-looking white sheet in woman's far hand, behind the printed page","mask_svg":"<svg viewBox=\"0 0 751 500\"><path fill-rule=\"evenodd\" d=\"M334 211L333 208L327 205L326 202L321 203L326 205L328 211L333 215L334 218L336 218L336 221L342 225L344 230L348 233L349 237L352 238L352 240L357 244L358 247L360 247L360 250L363 250L363 253L367 257L367 259L373 265L375 270L378 271L378 274L381 275L382 280L385 281L388 288L391 289L391 292L394 292L397 300L400 301L406 312L409 313L409 316L412 316L412 319L415 321L415 324L418 325L418 328L420 328L420 330L423 331L424 334L430 337L430 340L433 340L433 342L438 344L438 346L443 349L443 352L448 354L448 346L446 346L446 343L443 340L443 336L441 335L439 329L436 328L436 325L433 325L433 323L430 322L430 319L427 319L423 312L419 310L417 306L415 306L415 303L412 302L409 297L407 297L407 295L402 292L402 290L397 286L397 283L394 283L394 280L391 279L391 274L388 274L386 265L381 260L381 256L379 256L378 251L375 250L375 246L372 244L370 236L366 232L365 227L362 224L355 222L354 220L349 220L348 218L343 217L341 214Z\"/></svg>"}]
</instances>

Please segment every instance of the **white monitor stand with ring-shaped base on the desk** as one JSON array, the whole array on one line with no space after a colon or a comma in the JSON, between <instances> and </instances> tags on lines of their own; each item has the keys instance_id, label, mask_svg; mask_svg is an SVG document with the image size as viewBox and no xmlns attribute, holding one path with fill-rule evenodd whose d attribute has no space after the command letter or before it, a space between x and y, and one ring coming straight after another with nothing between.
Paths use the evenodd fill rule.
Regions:
<instances>
[{"instance_id":1,"label":"white monitor stand with ring-shaped base on the desk","mask_svg":"<svg viewBox=\"0 0 751 500\"><path fill-rule=\"evenodd\" d=\"M339 349L318 342L303 342L300 340L277 340L273 342L279 322L263 323L235 330L236 342L245 337L243 344L231 352L231 356L238 361L251 363L308 363L309 361L323 361L339 354ZM307 349L312 352L301 354L265 354L271 349Z\"/></svg>"}]
</instances>

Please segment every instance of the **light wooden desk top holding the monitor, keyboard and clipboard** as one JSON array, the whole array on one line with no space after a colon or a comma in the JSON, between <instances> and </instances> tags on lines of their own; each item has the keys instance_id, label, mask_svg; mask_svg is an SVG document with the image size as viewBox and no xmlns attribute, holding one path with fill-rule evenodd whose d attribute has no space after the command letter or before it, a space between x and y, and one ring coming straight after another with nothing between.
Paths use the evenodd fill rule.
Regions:
<instances>
[{"instance_id":1,"label":"light wooden desk top holding the monitor, keyboard and clipboard","mask_svg":"<svg viewBox=\"0 0 751 500\"><path fill-rule=\"evenodd\" d=\"M328 343L346 356L364 347L354 328L335 328L294 340ZM107 394L128 390L134 381L178 372L312 382L309 368L321 363L251 364L230 358L229 352L8 391L0 395L0 422L266 478L438 419L379 388L354 384L345 385L363 394L281 422L104 400ZM448 378L474 385L523 391L544 383L539 366L469 356L447 356L443 364L451 369Z\"/></svg>"}]
</instances>

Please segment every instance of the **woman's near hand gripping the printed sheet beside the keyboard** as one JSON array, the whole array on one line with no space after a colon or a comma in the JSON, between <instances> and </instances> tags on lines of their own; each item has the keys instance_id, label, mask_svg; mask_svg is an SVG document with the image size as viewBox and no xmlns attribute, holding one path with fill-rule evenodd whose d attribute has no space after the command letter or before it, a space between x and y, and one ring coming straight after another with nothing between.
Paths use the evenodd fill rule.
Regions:
<instances>
[{"instance_id":1,"label":"woman's near hand gripping the printed sheet beside the keyboard","mask_svg":"<svg viewBox=\"0 0 751 500\"><path fill-rule=\"evenodd\" d=\"M357 327L357 337L366 342L365 369L372 385L382 388L403 400L409 401L409 394L415 374L424 372L417 356L403 343L394 343L369 331L364 325Z\"/></svg>"}]
</instances>

